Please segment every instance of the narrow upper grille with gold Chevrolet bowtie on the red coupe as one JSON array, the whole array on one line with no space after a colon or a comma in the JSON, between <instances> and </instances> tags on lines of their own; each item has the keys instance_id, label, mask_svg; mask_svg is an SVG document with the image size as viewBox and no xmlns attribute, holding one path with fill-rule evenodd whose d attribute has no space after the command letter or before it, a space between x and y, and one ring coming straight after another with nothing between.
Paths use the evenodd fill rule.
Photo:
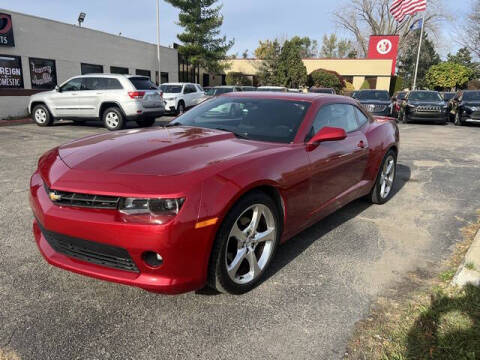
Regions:
<instances>
[{"instance_id":1,"label":"narrow upper grille with gold Chevrolet bowtie on the red coupe","mask_svg":"<svg viewBox=\"0 0 480 360\"><path fill-rule=\"evenodd\" d=\"M63 206L78 206L94 209L116 209L120 197L73 193L67 191L51 190L45 186L45 190L54 204Z\"/></svg>"}]
</instances>

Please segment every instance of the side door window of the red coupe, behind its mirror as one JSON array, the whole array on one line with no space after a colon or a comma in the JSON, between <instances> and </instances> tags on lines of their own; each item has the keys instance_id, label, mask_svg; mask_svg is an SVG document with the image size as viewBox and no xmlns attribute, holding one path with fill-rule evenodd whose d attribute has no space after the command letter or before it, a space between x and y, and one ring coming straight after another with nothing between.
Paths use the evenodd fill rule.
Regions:
<instances>
[{"instance_id":1,"label":"side door window of the red coupe, behind its mirror","mask_svg":"<svg viewBox=\"0 0 480 360\"><path fill-rule=\"evenodd\" d=\"M349 104L329 104L320 108L313 121L313 134L324 127L338 127L347 133L358 128L355 110Z\"/></svg>"}]
</instances>

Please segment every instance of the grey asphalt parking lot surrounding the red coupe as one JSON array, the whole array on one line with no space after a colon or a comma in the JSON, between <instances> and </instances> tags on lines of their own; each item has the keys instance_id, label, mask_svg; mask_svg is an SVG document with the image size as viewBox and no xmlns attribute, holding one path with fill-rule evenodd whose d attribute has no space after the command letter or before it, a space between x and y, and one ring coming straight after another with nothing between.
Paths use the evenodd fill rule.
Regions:
<instances>
[{"instance_id":1,"label":"grey asphalt parking lot surrounding the red coupe","mask_svg":"<svg viewBox=\"0 0 480 360\"><path fill-rule=\"evenodd\" d=\"M0 350L21 359L339 359L357 320L408 271L430 270L476 217L480 127L400 125L395 195L359 200L282 246L243 296L162 296L48 265L28 181L97 124L0 128Z\"/></svg>"}]
</instances>

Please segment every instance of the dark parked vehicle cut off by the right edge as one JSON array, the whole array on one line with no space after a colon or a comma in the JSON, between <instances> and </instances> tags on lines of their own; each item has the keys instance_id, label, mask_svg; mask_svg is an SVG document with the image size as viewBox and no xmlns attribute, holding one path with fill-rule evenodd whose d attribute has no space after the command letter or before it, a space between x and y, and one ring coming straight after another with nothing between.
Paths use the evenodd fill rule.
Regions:
<instances>
[{"instance_id":1,"label":"dark parked vehicle cut off by the right edge","mask_svg":"<svg viewBox=\"0 0 480 360\"><path fill-rule=\"evenodd\" d=\"M455 125L480 124L480 90L460 91L451 102Z\"/></svg>"}]
</instances>

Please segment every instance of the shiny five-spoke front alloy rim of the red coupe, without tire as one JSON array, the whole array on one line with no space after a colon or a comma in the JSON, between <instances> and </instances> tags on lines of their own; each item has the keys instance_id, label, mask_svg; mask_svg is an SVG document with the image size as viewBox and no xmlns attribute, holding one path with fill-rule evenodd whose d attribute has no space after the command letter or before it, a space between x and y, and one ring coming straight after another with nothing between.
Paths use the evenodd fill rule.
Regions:
<instances>
[{"instance_id":1,"label":"shiny five-spoke front alloy rim of the red coupe, without tire","mask_svg":"<svg viewBox=\"0 0 480 360\"><path fill-rule=\"evenodd\" d=\"M228 276L237 284L257 279L274 250L277 226L272 211L263 204L248 207L235 221L225 248Z\"/></svg>"}]
</instances>

